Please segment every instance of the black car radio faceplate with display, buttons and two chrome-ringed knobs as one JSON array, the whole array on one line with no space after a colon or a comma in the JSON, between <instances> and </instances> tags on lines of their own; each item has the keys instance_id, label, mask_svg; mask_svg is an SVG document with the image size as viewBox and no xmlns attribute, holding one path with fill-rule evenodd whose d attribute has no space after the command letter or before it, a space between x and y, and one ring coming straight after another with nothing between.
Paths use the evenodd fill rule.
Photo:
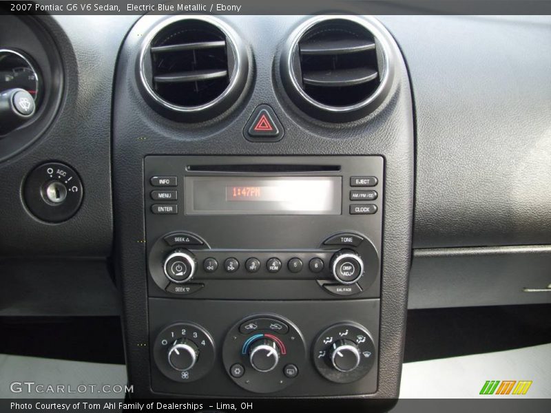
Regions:
<instances>
[{"instance_id":1,"label":"black car radio faceplate with display, buttons and two chrome-ringed knobs","mask_svg":"<svg viewBox=\"0 0 551 413\"><path fill-rule=\"evenodd\" d=\"M147 156L144 164L150 297L380 296L381 156ZM343 254L349 260L335 268ZM346 282L360 266L357 282Z\"/></svg>"}]
</instances>

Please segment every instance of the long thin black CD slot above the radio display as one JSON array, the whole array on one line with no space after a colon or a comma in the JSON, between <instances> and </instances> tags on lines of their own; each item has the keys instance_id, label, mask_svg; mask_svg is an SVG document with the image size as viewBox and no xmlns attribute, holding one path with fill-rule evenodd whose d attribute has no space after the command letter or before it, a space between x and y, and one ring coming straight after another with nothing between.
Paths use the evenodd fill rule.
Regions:
<instances>
[{"instance_id":1,"label":"long thin black CD slot above the radio display","mask_svg":"<svg viewBox=\"0 0 551 413\"><path fill-rule=\"evenodd\" d=\"M240 164L240 165L188 165L190 172L226 173L317 173L339 172L340 165L280 165L280 164Z\"/></svg>"}]
</instances>

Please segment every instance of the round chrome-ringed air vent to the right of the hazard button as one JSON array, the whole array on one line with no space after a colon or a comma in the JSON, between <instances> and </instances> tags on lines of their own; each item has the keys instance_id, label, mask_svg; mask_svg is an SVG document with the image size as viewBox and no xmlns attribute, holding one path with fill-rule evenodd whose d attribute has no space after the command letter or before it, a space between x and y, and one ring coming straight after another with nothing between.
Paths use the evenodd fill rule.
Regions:
<instances>
[{"instance_id":1,"label":"round chrome-ringed air vent to the right of the hazard button","mask_svg":"<svg viewBox=\"0 0 551 413\"><path fill-rule=\"evenodd\" d=\"M304 112L329 122L363 118L382 103L393 69L389 34L363 17L306 21L284 49L285 89Z\"/></svg>"}]
</instances>

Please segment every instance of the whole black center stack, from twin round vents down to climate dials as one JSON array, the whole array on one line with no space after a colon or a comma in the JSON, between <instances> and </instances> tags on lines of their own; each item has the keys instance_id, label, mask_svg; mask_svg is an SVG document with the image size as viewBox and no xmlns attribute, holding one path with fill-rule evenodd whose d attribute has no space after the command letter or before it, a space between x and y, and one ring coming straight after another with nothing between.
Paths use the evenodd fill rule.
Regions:
<instances>
[{"instance_id":1,"label":"whole black center stack, from twin round vents down to climate dials","mask_svg":"<svg viewBox=\"0 0 551 413\"><path fill-rule=\"evenodd\" d=\"M131 398L346 398L360 410L398 396L413 215L406 67L375 19L275 20L281 36L258 16L146 16L121 48L114 256ZM341 52L364 59L326 57ZM300 65L331 61L362 85L298 82Z\"/></svg>"}]
</instances>

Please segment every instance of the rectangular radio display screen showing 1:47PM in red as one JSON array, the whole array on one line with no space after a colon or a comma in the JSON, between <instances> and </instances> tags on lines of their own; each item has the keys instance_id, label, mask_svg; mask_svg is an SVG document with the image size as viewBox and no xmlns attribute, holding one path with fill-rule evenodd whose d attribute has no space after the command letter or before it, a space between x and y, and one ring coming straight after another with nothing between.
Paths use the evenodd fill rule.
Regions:
<instances>
[{"instance_id":1,"label":"rectangular radio display screen showing 1:47PM in red","mask_svg":"<svg viewBox=\"0 0 551 413\"><path fill-rule=\"evenodd\" d=\"M339 215L340 176L187 176L189 215Z\"/></svg>"}]
</instances>

